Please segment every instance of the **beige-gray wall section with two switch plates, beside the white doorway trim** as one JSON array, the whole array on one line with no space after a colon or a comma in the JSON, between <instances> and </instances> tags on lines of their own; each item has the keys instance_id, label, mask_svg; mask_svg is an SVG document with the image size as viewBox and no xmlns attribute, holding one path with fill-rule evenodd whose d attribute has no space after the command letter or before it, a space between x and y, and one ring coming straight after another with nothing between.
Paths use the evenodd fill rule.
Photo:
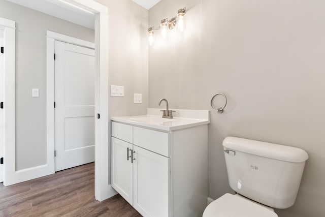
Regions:
<instances>
[{"instance_id":1,"label":"beige-gray wall section with two switch plates, beside the white doorway trim","mask_svg":"<svg viewBox=\"0 0 325 217\"><path fill-rule=\"evenodd\" d=\"M109 85L124 86L124 97L109 96L109 114L110 116L146 114L148 10L131 0L95 1L108 7ZM142 94L142 104L134 104L134 94Z\"/></svg>"}]
</instances>

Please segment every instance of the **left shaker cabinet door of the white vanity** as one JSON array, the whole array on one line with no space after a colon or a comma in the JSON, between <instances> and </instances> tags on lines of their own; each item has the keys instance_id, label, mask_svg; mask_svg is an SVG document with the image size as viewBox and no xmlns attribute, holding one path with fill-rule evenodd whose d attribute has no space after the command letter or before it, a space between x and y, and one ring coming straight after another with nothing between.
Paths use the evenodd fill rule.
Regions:
<instances>
[{"instance_id":1,"label":"left shaker cabinet door of the white vanity","mask_svg":"<svg viewBox=\"0 0 325 217\"><path fill-rule=\"evenodd\" d=\"M131 158L127 158L131 149L132 144L112 137L112 187L133 205L133 166Z\"/></svg>"}]
</instances>

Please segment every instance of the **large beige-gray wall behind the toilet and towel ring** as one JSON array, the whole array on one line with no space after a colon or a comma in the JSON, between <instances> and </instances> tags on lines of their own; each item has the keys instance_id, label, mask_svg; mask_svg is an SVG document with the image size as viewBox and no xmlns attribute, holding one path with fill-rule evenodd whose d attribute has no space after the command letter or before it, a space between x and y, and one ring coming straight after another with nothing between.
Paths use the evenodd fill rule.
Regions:
<instances>
[{"instance_id":1,"label":"large beige-gray wall behind the toilet and towel ring","mask_svg":"<svg viewBox=\"0 0 325 217\"><path fill-rule=\"evenodd\" d=\"M309 160L295 205L276 212L324 216L325 2L163 0L149 10L149 26L183 7L184 35L173 30L149 48L149 107L167 98L172 108L211 111L209 196L233 193L226 136L279 143L305 149ZM223 114L210 107L216 92L229 100Z\"/></svg>"}]
</instances>

